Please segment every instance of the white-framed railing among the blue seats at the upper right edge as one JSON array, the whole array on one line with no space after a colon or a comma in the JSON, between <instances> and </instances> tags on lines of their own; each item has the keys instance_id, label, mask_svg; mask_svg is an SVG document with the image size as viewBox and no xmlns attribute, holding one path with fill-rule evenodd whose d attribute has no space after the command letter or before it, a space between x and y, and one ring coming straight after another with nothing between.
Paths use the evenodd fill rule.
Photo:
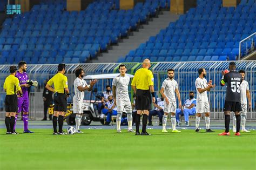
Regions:
<instances>
[{"instance_id":1,"label":"white-framed railing among the blue seats at the upper right edge","mask_svg":"<svg viewBox=\"0 0 256 170\"><path fill-rule=\"evenodd\" d=\"M256 32L254 32L252 35L246 37L245 39L242 39L239 42L239 56L238 60L241 59L241 53L243 53L244 56L247 56L249 52L254 51L254 45L255 45L255 38L256 38ZM245 50L243 51L242 45L245 44Z\"/></svg>"}]
</instances>

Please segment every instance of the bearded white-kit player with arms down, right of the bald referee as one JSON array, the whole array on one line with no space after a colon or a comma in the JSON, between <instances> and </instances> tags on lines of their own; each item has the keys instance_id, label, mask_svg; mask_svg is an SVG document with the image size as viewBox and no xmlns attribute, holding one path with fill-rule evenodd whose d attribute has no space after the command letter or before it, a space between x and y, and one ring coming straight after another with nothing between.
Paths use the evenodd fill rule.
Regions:
<instances>
[{"instance_id":1,"label":"bearded white-kit player with arms down, right of the bald referee","mask_svg":"<svg viewBox=\"0 0 256 170\"><path fill-rule=\"evenodd\" d=\"M160 90L162 97L165 99L162 132L167 133L166 123L167 123L168 113L171 113L172 132L180 132L176 130L176 115L175 115L176 114L176 97L174 93L176 93L178 97L179 108L181 107L181 100L180 100L180 93L178 89L178 83L176 80L173 79L174 70L173 69L167 70L167 76L168 78L164 80Z\"/></svg>"}]
</instances>

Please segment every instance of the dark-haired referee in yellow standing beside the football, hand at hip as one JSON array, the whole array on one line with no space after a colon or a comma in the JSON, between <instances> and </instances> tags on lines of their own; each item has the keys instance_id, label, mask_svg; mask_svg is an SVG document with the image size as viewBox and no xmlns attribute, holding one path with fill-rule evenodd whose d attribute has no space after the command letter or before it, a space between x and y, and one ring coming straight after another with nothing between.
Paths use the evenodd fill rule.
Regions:
<instances>
[{"instance_id":1,"label":"dark-haired referee in yellow standing beside the football, hand at hip","mask_svg":"<svg viewBox=\"0 0 256 170\"><path fill-rule=\"evenodd\" d=\"M68 78L64 75L66 70L65 64L58 65L58 73L55 74L46 84L45 88L54 92L54 114L52 118L53 134L65 134L63 132L63 119L66 111L66 98L69 97ZM53 89L51 85L54 85ZM57 123L59 124L59 131L57 131Z\"/></svg>"}]
</instances>

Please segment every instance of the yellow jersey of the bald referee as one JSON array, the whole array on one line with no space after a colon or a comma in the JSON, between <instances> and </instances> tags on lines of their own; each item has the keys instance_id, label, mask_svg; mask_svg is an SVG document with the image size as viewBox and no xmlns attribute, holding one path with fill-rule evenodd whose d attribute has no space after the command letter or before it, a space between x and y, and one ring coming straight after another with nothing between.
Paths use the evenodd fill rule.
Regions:
<instances>
[{"instance_id":1,"label":"yellow jersey of the bald referee","mask_svg":"<svg viewBox=\"0 0 256 170\"><path fill-rule=\"evenodd\" d=\"M136 89L149 90L149 86L154 85L154 76L149 69L139 69L134 74L132 79L132 86L136 86Z\"/></svg>"}]
</instances>

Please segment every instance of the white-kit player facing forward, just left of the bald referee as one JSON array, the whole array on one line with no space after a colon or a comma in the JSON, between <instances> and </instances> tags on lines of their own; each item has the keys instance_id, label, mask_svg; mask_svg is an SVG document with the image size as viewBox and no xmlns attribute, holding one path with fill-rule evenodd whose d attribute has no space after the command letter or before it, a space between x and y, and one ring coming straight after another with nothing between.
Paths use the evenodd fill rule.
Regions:
<instances>
[{"instance_id":1,"label":"white-kit player facing forward, just left of the bald referee","mask_svg":"<svg viewBox=\"0 0 256 170\"><path fill-rule=\"evenodd\" d=\"M113 79L112 90L114 104L117 106L117 132L122 133L120 125L122 113L126 112L128 121L128 132L135 132L132 129L132 105L128 94L130 77L126 76L126 66L119 65L120 74Z\"/></svg>"}]
</instances>

